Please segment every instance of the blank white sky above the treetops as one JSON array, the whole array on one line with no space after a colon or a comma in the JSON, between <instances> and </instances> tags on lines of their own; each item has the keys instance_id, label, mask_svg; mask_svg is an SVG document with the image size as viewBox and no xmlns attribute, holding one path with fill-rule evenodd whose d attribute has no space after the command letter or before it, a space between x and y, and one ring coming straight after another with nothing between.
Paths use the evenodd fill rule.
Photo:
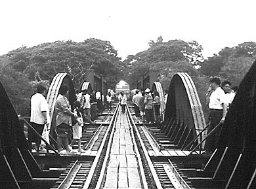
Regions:
<instances>
[{"instance_id":1,"label":"blank white sky above the treetops","mask_svg":"<svg viewBox=\"0 0 256 189\"><path fill-rule=\"evenodd\" d=\"M209 57L256 42L255 0L1 0L0 55L54 41L110 41L118 56L149 48L150 40L196 41Z\"/></svg>"}]
</instances>

